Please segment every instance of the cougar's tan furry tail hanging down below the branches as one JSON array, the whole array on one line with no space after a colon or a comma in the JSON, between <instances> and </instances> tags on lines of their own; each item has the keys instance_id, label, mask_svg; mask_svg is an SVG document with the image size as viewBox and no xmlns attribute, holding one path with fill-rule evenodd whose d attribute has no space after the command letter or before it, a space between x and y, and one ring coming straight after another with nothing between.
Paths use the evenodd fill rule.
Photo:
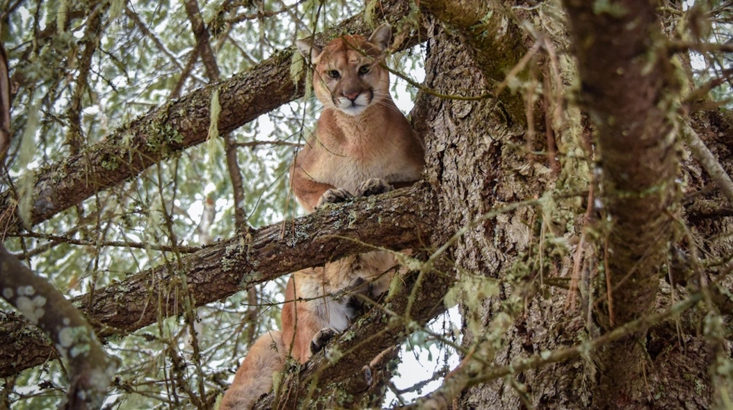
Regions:
<instances>
[{"instance_id":1,"label":"cougar's tan furry tail hanging down below the branches","mask_svg":"<svg viewBox=\"0 0 733 410\"><path fill-rule=\"evenodd\" d=\"M282 332L269 332L255 340L247 357L224 393L219 410L250 410L257 400L273 388L273 374L285 362Z\"/></svg>"}]
</instances>

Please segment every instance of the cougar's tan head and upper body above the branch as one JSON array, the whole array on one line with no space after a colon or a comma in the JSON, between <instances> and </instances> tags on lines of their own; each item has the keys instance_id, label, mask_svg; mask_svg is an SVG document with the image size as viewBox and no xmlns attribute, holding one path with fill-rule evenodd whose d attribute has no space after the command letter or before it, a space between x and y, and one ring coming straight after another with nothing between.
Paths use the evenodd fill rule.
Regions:
<instances>
[{"instance_id":1,"label":"cougar's tan head and upper body above the branch","mask_svg":"<svg viewBox=\"0 0 733 410\"><path fill-rule=\"evenodd\" d=\"M389 26L380 26L370 40L384 30L390 30ZM298 46L301 52L309 49L307 43ZM393 185L420 179L425 165L422 141L394 105L389 72L377 64L385 47L386 42L372 44L361 36L346 36L331 41L320 53L312 49L316 64L313 88L325 108L315 133L290 170L292 190L308 212L328 189L355 193L358 184L369 178ZM369 72L360 75L361 67L368 67ZM328 75L332 70L339 72L338 79ZM353 93L359 94L357 101L369 100L356 116L336 108L336 103L343 108L348 103L345 94Z\"/></svg>"}]
</instances>

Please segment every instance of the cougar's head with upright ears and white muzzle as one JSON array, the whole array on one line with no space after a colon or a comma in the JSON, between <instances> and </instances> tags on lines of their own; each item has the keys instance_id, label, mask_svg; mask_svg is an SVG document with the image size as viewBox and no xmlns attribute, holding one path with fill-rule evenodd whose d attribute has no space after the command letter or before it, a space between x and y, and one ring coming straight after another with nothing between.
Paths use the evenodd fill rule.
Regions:
<instances>
[{"instance_id":1,"label":"cougar's head with upright ears and white muzzle","mask_svg":"<svg viewBox=\"0 0 733 410\"><path fill-rule=\"evenodd\" d=\"M324 48L298 40L298 51L314 64L313 89L326 108L358 116L389 96L389 72L379 65L392 28L384 23L369 39L347 35Z\"/></svg>"}]
</instances>

